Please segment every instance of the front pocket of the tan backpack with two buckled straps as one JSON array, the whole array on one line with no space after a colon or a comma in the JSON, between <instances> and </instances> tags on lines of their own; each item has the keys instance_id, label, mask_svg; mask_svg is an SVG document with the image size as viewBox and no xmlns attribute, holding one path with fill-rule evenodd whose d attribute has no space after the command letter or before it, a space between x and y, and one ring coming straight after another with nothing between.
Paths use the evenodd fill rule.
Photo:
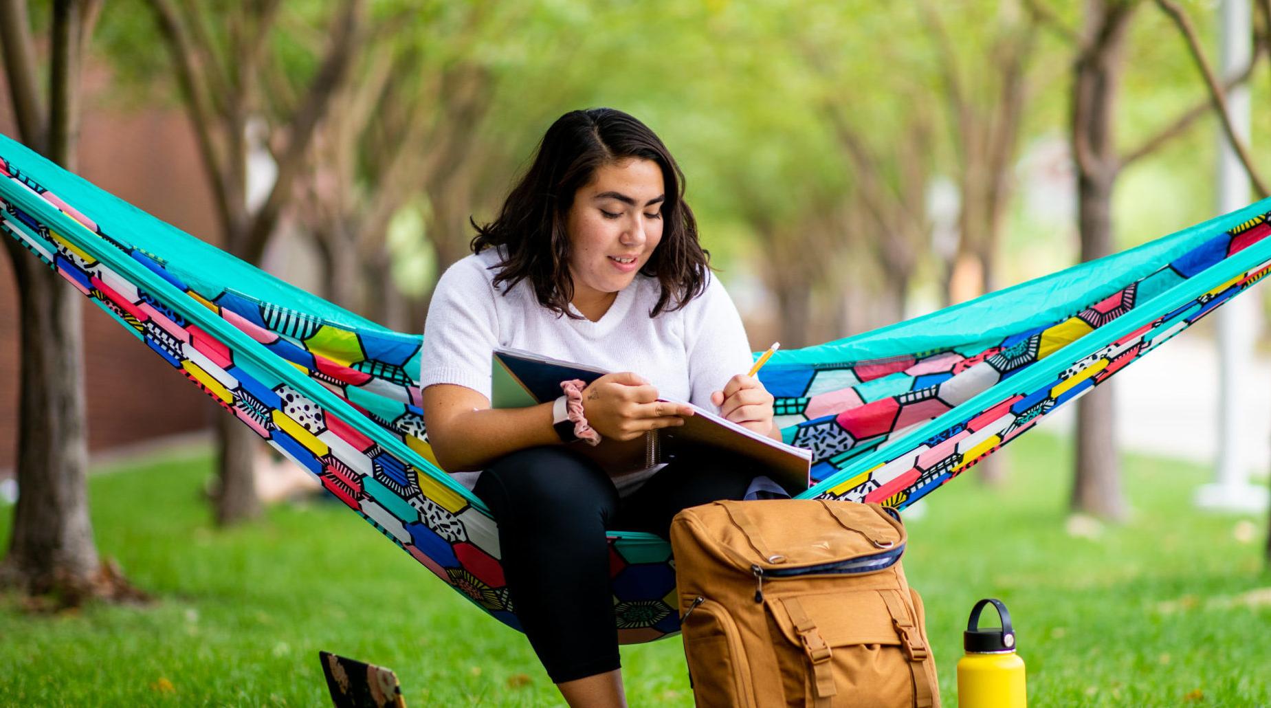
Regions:
<instances>
[{"instance_id":1,"label":"front pocket of the tan backpack with two buckled straps","mask_svg":"<svg viewBox=\"0 0 1271 708\"><path fill-rule=\"evenodd\" d=\"M932 705L930 652L900 597L890 589L765 597L773 641L785 642L774 648L787 703Z\"/></svg>"}]
</instances>

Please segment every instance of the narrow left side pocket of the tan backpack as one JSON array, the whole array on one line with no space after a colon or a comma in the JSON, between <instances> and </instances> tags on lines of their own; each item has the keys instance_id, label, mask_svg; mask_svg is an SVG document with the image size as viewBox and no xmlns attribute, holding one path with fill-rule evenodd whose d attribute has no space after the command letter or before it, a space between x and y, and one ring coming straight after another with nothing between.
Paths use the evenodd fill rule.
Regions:
<instances>
[{"instance_id":1,"label":"narrow left side pocket of the tan backpack","mask_svg":"<svg viewBox=\"0 0 1271 708\"><path fill-rule=\"evenodd\" d=\"M689 681L699 707L755 707L737 624L719 602L697 597L681 620Z\"/></svg>"}]
</instances>

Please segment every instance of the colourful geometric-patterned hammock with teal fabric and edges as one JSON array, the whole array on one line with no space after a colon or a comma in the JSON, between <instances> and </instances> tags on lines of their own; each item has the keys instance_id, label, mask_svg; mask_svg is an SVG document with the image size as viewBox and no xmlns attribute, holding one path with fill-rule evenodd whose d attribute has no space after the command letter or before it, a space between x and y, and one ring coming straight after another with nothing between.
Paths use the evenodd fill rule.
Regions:
<instances>
[{"instance_id":1,"label":"colourful geometric-patterned hammock with teal fabric and edges","mask_svg":"<svg viewBox=\"0 0 1271 708\"><path fill-rule=\"evenodd\" d=\"M0 136L0 228L393 543L517 628L484 505L436 465L418 334L282 282ZM1138 248L846 339L760 379L801 497L904 508L1268 271L1271 200ZM670 548L614 530L624 643L679 630ZM550 572L550 568L544 568Z\"/></svg>"}]
</instances>

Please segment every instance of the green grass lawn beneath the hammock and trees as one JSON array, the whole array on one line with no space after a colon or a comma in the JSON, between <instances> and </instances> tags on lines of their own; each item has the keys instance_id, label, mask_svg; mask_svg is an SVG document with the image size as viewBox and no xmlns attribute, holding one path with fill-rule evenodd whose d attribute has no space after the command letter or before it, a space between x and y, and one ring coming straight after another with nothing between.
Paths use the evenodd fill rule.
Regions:
<instances>
[{"instance_id":1,"label":"green grass lawn beneath the hammock and trees","mask_svg":"<svg viewBox=\"0 0 1271 708\"><path fill-rule=\"evenodd\" d=\"M1009 606L1033 705L1271 703L1263 519L1207 515L1207 472L1130 456L1124 526L1073 534L1069 445L1032 433L1009 483L966 478L909 524L946 704L971 605ZM342 506L211 526L206 453L92 479L98 547L158 601L29 615L0 596L0 704L320 705L318 650L393 667L409 705L554 705L524 637L487 618ZM8 544L9 508L0 508ZM691 705L679 638L623 648L633 705Z\"/></svg>"}]
</instances>

